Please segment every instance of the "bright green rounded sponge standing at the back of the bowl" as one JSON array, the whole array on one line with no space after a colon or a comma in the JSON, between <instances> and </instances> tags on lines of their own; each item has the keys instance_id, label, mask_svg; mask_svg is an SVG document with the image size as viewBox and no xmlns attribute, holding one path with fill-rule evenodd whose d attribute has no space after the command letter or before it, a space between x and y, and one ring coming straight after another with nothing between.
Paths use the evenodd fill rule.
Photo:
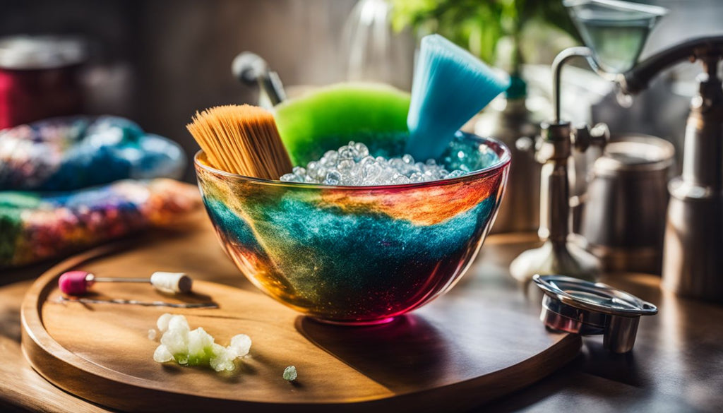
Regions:
<instances>
[{"instance_id":1,"label":"bright green rounded sponge standing at the back of the bowl","mask_svg":"<svg viewBox=\"0 0 723 413\"><path fill-rule=\"evenodd\" d=\"M276 125L295 166L349 140L394 153L406 139L409 99L388 85L338 83L276 106Z\"/></svg>"}]
</instances>

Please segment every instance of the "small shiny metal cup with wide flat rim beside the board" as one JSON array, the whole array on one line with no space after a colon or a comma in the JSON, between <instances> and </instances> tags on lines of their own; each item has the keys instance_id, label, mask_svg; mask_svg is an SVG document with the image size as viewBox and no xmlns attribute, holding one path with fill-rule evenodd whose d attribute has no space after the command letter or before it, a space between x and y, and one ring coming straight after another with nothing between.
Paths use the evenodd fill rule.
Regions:
<instances>
[{"instance_id":1,"label":"small shiny metal cup with wide flat rim beside the board","mask_svg":"<svg viewBox=\"0 0 723 413\"><path fill-rule=\"evenodd\" d=\"M603 345L612 352L633 349L640 316L658 312L651 303L607 284L566 276L535 275L532 279L545 294L540 320L548 328L603 334Z\"/></svg>"}]
</instances>

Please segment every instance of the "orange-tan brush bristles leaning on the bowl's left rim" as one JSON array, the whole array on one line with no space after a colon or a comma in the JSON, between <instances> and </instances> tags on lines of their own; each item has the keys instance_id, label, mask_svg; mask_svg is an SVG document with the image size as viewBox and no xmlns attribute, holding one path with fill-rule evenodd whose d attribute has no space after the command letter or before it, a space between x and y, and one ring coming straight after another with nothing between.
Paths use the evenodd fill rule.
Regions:
<instances>
[{"instance_id":1,"label":"orange-tan brush bristles leaning on the bowl's left rim","mask_svg":"<svg viewBox=\"0 0 723 413\"><path fill-rule=\"evenodd\" d=\"M291 172L273 114L263 108L216 106L196 112L186 128L215 169L262 179Z\"/></svg>"}]
</instances>

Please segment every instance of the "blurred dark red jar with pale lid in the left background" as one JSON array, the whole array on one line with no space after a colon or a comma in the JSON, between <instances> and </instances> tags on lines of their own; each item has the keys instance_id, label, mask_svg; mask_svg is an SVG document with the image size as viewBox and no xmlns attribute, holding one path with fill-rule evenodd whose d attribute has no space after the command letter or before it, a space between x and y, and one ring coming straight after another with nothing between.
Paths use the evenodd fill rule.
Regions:
<instances>
[{"instance_id":1,"label":"blurred dark red jar with pale lid in the left background","mask_svg":"<svg viewBox=\"0 0 723 413\"><path fill-rule=\"evenodd\" d=\"M52 116L79 114L78 76L85 48L77 38L0 38L0 129Z\"/></svg>"}]
</instances>

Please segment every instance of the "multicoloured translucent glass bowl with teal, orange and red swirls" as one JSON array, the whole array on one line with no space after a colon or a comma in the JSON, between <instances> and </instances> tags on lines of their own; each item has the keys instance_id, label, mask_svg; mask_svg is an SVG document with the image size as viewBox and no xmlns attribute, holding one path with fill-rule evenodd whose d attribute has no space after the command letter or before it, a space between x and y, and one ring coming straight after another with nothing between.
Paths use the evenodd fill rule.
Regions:
<instances>
[{"instance_id":1,"label":"multicoloured translucent glass bowl with teal, orange and red swirls","mask_svg":"<svg viewBox=\"0 0 723 413\"><path fill-rule=\"evenodd\" d=\"M492 226L509 150L458 139L486 145L499 161L458 178L377 187L228 174L202 152L194 163L218 238L255 286L320 320L381 323L448 291Z\"/></svg>"}]
</instances>

